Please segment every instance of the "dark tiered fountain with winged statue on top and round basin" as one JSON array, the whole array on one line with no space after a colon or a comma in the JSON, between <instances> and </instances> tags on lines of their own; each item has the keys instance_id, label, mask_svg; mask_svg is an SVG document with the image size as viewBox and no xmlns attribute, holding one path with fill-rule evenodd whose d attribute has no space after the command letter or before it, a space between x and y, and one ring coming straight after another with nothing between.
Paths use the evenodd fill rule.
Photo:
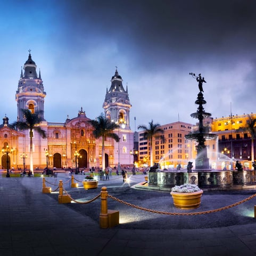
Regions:
<instances>
[{"instance_id":1,"label":"dark tiered fountain with winged statue on top and round basin","mask_svg":"<svg viewBox=\"0 0 256 256\"><path fill-rule=\"evenodd\" d=\"M197 142L195 169L187 169L187 171L163 171L155 169L148 173L148 188L170 190L175 185L184 183L196 184L206 190L255 188L255 170L212 170L209 167L207 146L204 143L208 139L216 139L218 135L209 133L203 126L203 119L211 116L211 114L205 112L203 108L203 105L207 103L203 97L203 82L206 81L201 77L201 74L195 76L194 73L190 73L190 75L196 78L200 90L199 94L197 94L197 100L195 101L195 104L199 106L197 111L191 114L191 117L199 120L199 129L185 136L186 139Z\"/></svg>"}]
</instances>

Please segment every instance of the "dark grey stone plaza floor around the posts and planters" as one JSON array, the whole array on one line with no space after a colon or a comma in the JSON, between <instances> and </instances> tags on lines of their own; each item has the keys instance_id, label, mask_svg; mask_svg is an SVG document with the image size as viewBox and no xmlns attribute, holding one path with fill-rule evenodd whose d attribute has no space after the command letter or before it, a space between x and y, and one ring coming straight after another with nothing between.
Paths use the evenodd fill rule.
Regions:
<instances>
[{"instance_id":1,"label":"dark grey stone plaza floor around the posts and planters","mask_svg":"<svg viewBox=\"0 0 256 256\"><path fill-rule=\"evenodd\" d=\"M80 202L93 199L106 186L110 195L139 207L188 212L174 208L169 192L134 189L144 175L131 177L130 183L112 176L87 191L81 185L70 188L68 174L46 177L51 184L60 179ZM225 207L254 193L255 189L204 192L200 208L189 212ZM108 208L120 212L120 224L102 229L100 199L88 204L59 204L57 196L57 192L42 193L42 178L0 177L1 256L256 255L255 197L225 211L194 216L163 216L108 199Z\"/></svg>"}]
</instances>

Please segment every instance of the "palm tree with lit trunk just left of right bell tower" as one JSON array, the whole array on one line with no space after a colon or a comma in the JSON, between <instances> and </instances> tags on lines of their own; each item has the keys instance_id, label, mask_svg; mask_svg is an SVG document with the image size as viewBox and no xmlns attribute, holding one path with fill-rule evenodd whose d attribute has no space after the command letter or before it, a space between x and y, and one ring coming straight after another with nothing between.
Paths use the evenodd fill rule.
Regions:
<instances>
[{"instance_id":1,"label":"palm tree with lit trunk just left of right bell tower","mask_svg":"<svg viewBox=\"0 0 256 256\"><path fill-rule=\"evenodd\" d=\"M102 137L102 170L105 170L105 148L104 142L106 138L113 138L116 142L119 142L120 138L117 134L113 133L113 130L119 126L116 123L106 118L101 113L95 120L90 120L89 123L93 126L93 135L95 138Z\"/></svg>"}]
</instances>

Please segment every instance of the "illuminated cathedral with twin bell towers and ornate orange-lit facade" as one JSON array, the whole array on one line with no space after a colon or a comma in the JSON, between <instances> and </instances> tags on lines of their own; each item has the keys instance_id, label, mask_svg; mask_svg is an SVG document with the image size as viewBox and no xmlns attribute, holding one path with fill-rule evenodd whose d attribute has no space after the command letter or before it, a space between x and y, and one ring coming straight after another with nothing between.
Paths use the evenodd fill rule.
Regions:
<instances>
[{"instance_id":1,"label":"illuminated cathedral with twin bell towers and ornate orange-lit facade","mask_svg":"<svg viewBox=\"0 0 256 256\"><path fill-rule=\"evenodd\" d=\"M122 78L115 69L111 86L106 89L103 109L106 118L118 124L114 130L120 141L106 138L105 155L102 155L102 139L93 136L90 119L81 108L77 117L67 118L63 123L48 122L44 119L44 102L46 92L41 73L37 74L37 65L29 51L28 60L21 70L15 100L17 102L17 121L24 121L23 110L42 113L43 121L39 126L45 130L43 138L36 131L33 133L32 150L34 169L48 168L101 168L102 158L105 166L128 167L133 164L130 151L134 148L134 132L130 129L130 108L128 88L124 89ZM95 117L93 117L95 118ZM30 136L29 130L16 130L9 124L9 118L3 118L0 125L1 168L29 169ZM6 153L9 148L9 153Z\"/></svg>"}]
</instances>

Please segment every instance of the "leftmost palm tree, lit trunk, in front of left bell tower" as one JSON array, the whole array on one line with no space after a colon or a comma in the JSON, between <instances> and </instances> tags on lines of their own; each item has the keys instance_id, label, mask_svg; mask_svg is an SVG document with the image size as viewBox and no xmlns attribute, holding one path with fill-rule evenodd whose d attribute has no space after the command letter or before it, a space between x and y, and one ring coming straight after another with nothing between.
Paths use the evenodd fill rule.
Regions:
<instances>
[{"instance_id":1,"label":"leftmost palm tree, lit trunk, in front of left bell tower","mask_svg":"<svg viewBox=\"0 0 256 256\"><path fill-rule=\"evenodd\" d=\"M37 133L42 136L42 138L46 138L45 130L40 128L38 125L44 119L41 117L43 111L37 111L32 113L28 109L23 109L23 117L24 121L16 121L12 125L19 130L29 130L29 137L30 137L30 171L34 174L34 167L33 167L33 130L37 131Z\"/></svg>"}]
</instances>

